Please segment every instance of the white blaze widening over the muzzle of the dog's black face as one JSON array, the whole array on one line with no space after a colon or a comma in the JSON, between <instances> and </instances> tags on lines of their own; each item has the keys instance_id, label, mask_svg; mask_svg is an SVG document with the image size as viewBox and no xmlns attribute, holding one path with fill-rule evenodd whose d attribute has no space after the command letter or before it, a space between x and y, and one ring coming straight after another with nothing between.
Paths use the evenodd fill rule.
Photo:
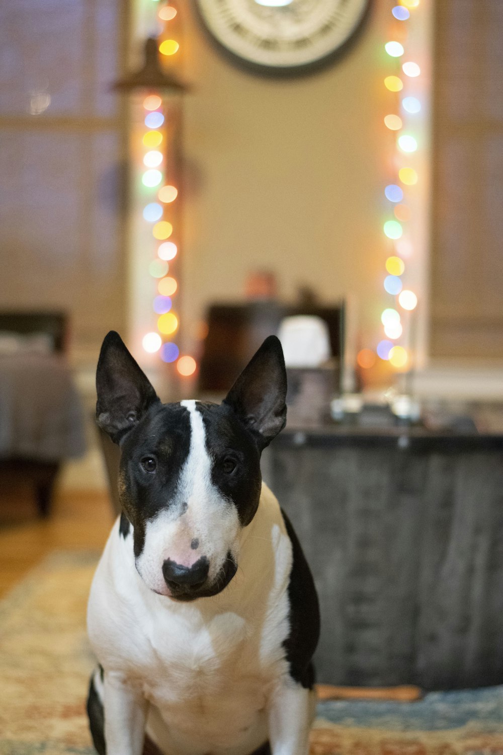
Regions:
<instances>
[{"instance_id":1,"label":"white blaze widening over the muzzle of the dog's black face","mask_svg":"<svg viewBox=\"0 0 503 755\"><path fill-rule=\"evenodd\" d=\"M162 567L170 559L190 567L198 559L210 563L207 584L213 584L232 553L238 559L241 532L238 511L212 482L213 460L207 451L201 412L195 401L182 401L190 413L189 456L179 473L174 498L166 501L146 524L145 544L136 569L152 590L170 595Z\"/></svg>"}]
</instances>

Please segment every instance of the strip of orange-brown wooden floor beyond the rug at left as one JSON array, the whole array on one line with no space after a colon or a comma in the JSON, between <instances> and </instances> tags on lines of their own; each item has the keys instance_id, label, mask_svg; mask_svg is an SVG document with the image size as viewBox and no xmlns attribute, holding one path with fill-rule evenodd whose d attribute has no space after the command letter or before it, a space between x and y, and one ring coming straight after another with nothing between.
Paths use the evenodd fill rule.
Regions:
<instances>
[{"instance_id":1,"label":"strip of orange-brown wooden floor beyond the rug at left","mask_svg":"<svg viewBox=\"0 0 503 755\"><path fill-rule=\"evenodd\" d=\"M0 596L51 550L102 550L112 522L104 492L61 492L48 519L41 519L27 485L0 489Z\"/></svg>"}]
</instances>

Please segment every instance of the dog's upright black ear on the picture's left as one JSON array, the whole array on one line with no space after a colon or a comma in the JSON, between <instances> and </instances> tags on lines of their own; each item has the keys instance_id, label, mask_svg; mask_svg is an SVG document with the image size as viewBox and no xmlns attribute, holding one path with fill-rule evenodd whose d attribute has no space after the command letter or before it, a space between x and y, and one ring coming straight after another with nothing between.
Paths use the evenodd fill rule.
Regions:
<instances>
[{"instance_id":1,"label":"dog's upright black ear on the picture's left","mask_svg":"<svg viewBox=\"0 0 503 755\"><path fill-rule=\"evenodd\" d=\"M147 411L160 401L148 377L124 345L120 335L105 336L96 372L97 424L120 443Z\"/></svg>"}]
</instances>

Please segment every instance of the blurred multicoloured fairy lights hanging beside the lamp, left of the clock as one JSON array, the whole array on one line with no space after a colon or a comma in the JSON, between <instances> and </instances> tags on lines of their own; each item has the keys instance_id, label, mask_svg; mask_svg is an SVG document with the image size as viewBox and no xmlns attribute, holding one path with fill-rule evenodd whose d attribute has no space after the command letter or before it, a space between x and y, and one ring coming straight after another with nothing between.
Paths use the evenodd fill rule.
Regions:
<instances>
[{"instance_id":1,"label":"blurred multicoloured fairy lights hanging beside the lamp, left of the clock","mask_svg":"<svg viewBox=\"0 0 503 755\"><path fill-rule=\"evenodd\" d=\"M158 5L158 0L152 0ZM160 5L160 4L159 4ZM177 9L169 2L161 5L158 19L163 25L159 35L158 49L161 55L172 56L179 51L179 42L170 39L169 23L176 17ZM176 370L184 377L195 373L197 368L192 356L181 355L176 344L179 331L179 315L176 314L176 294L179 283L173 276L170 266L176 266L178 245L177 230L173 227L173 212L170 208L178 198L176 186L167 183L167 139L169 130L167 121L170 117L168 108L164 109L163 100L158 94L149 94L143 100L145 131L143 131L143 186L149 200L143 208L143 218L152 224L152 237L159 242L157 256L149 264L149 273L157 281L157 293L153 300L153 310L158 316L157 329L143 336L143 348L149 353L158 353L160 359L168 364L176 364ZM161 149L164 147L164 150ZM149 192L149 190L151 190ZM174 300L173 300L174 299Z\"/></svg>"}]
</instances>

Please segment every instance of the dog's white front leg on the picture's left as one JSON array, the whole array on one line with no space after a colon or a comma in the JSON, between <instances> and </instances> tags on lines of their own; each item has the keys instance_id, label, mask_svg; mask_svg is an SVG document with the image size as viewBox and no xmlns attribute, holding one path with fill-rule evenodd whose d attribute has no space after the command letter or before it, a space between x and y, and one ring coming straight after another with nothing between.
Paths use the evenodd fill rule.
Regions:
<instances>
[{"instance_id":1,"label":"dog's white front leg on the picture's left","mask_svg":"<svg viewBox=\"0 0 503 755\"><path fill-rule=\"evenodd\" d=\"M106 755L141 755L145 737L147 701L123 676L105 672Z\"/></svg>"}]
</instances>

